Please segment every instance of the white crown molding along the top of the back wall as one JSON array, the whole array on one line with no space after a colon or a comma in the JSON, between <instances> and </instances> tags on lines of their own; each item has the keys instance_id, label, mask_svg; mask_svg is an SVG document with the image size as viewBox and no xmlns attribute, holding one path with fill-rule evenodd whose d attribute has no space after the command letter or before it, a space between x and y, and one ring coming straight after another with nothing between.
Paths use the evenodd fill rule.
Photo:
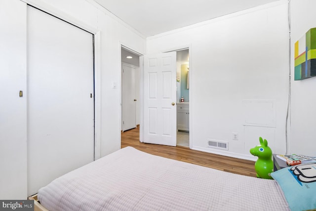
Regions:
<instances>
[{"instance_id":1,"label":"white crown molding along the top of the back wall","mask_svg":"<svg viewBox=\"0 0 316 211\"><path fill-rule=\"evenodd\" d=\"M275 7L275 6L278 6L278 5L282 5L284 3L288 4L288 0L274 1L274 2L271 2L271 3L267 3L267 4L260 5L260 6L256 6L256 7L253 7L253 8L244 9L244 10L241 10L241 11L238 11L238 12L234 12L234 13L231 13L231 14L223 15L223 16L220 16L220 17L217 17L217 18L212 18L210 20L202 21L202 22L199 22L199 23L196 23L196 24L192 24L190 26L182 27L182 28L175 29L175 30L170 30L168 32L164 32L164 33L161 33L161 34L158 34L158 35L147 37L147 41L148 40L153 40L153 39L156 39L156 38L160 38L160 37L163 37L163 36L175 34L175 33L178 33L178 32L194 29L194 28L201 27L201 26L204 26L204 25L207 25L207 24L210 24L210 23L214 23L214 22L225 20L225 19L237 17L237 16L240 16L240 15L252 13L252 12L255 12L255 11L258 11L258 10L262 10L262 9L266 9L266 8L270 8L270 7Z\"/></svg>"}]
</instances>

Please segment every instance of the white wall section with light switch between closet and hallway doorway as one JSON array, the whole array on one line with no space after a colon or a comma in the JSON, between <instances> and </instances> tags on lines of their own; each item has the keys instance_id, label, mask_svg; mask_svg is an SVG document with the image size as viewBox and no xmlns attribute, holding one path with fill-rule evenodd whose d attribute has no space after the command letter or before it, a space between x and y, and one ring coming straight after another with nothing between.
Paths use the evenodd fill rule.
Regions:
<instances>
[{"instance_id":1,"label":"white wall section with light switch between closet and hallway doorway","mask_svg":"<svg viewBox=\"0 0 316 211\"><path fill-rule=\"evenodd\" d=\"M120 84L120 44L137 52L145 52L145 40L115 18L98 10L99 29L102 29L102 134L101 156L120 148L120 89L113 89L113 82Z\"/></svg>"}]
</instances>

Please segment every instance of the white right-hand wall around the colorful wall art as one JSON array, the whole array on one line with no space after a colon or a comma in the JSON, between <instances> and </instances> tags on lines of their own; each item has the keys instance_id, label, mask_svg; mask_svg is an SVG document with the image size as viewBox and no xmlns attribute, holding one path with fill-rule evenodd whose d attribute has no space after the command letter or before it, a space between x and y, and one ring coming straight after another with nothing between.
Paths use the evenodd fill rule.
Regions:
<instances>
[{"instance_id":1,"label":"white right-hand wall around the colorful wall art","mask_svg":"<svg viewBox=\"0 0 316 211\"><path fill-rule=\"evenodd\" d=\"M294 81L294 43L316 28L315 0L291 0L291 133L289 153L316 156L316 77Z\"/></svg>"}]
</instances>

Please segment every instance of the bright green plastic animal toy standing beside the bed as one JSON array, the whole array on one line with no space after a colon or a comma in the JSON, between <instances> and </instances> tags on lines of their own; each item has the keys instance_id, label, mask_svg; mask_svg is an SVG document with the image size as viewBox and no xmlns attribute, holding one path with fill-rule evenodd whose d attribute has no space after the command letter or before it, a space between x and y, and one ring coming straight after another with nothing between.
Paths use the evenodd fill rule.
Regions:
<instances>
[{"instance_id":1,"label":"bright green plastic animal toy standing beside the bed","mask_svg":"<svg viewBox=\"0 0 316 211\"><path fill-rule=\"evenodd\" d=\"M268 141L259 137L260 144L252 149L250 153L257 156L258 160L255 163L255 170L257 177L264 179L273 179L271 172L273 172L272 150L268 147Z\"/></svg>"}]
</instances>

